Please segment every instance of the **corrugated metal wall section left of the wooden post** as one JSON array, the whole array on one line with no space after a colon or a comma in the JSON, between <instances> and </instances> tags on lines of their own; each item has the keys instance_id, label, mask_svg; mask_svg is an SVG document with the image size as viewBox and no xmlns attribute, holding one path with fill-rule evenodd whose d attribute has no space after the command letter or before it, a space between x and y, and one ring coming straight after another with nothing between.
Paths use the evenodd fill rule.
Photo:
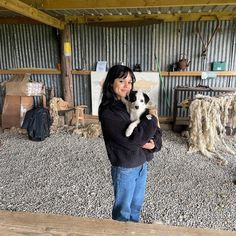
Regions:
<instances>
[{"instance_id":1,"label":"corrugated metal wall section left of the wooden post","mask_svg":"<svg viewBox=\"0 0 236 236\"><path fill-rule=\"evenodd\" d=\"M58 32L46 25L0 25L0 69L55 68L60 62ZM11 75L0 75L0 83ZM32 75L61 96L59 75ZM3 94L0 94L1 98ZM3 99L0 98L0 109Z\"/></svg>"}]
</instances>

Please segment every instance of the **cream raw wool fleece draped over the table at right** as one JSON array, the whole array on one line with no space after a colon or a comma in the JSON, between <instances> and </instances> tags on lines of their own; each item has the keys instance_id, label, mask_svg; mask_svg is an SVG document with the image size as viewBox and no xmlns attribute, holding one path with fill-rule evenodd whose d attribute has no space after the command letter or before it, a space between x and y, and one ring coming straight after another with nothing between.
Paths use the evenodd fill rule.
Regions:
<instances>
[{"instance_id":1,"label":"cream raw wool fleece draped over the table at right","mask_svg":"<svg viewBox=\"0 0 236 236\"><path fill-rule=\"evenodd\" d=\"M236 93L219 97L196 95L189 110L189 153L200 151L226 165L227 161L220 153L235 154L227 146L225 136L226 127L231 135L236 129ZM232 138L235 139L235 135Z\"/></svg>"}]
</instances>

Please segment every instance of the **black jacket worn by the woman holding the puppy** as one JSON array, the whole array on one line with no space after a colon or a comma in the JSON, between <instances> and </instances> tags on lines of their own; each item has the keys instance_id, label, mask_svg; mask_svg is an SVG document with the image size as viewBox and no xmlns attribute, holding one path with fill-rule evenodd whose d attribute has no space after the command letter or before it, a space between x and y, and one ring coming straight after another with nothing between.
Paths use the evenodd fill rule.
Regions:
<instances>
[{"instance_id":1,"label":"black jacket worn by the woman holding the puppy","mask_svg":"<svg viewBox=\"0 0 236 236\"><path fill-rule=\"evenodd\" d=\"M153 158L153 151L142 148L157 130L157 119L144 117L127 138L125 131L131 123L125 105L116 101L106 107L100 114L103 137L112 166L133 168L142 165Z\"/></svg>"}]
</instances>

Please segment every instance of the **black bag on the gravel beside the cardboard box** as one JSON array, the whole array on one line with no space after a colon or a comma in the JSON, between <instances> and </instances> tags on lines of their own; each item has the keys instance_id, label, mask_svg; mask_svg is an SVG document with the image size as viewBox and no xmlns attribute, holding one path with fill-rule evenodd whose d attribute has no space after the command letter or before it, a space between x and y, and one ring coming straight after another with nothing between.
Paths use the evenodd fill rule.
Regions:
<instances>
[{"instance_id":1,"label":"black bag on the gravel beside the cardboard box","mask_svg":"<svg viewBox=\"0 0 236 236\"><path fill-rule=\"evenodd\" d=\"M50 135L51 123L49 110L38 107L26 112L22 128L27 129L30 140L43 141Z\"/></svg>"}]
</instances>

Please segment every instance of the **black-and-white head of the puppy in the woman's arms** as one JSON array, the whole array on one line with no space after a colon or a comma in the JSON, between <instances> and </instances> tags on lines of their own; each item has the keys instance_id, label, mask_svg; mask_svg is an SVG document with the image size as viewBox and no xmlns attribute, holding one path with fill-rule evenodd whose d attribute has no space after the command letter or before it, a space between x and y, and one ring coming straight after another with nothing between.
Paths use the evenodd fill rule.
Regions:
<instances>
[{"instance_id":1,"label":"black-and-white head of the puppy in the woman's arms","mask_svg":"<svg viewBox=\"0 0 236 236\"><path fill-rule=\"evenodd\" d=\"M147 103L149 102L149 100L150 99L148 95L140 91L132 91L129 94L131 109L145 110L147 108Z\"/></svg>"}]
</instances>

